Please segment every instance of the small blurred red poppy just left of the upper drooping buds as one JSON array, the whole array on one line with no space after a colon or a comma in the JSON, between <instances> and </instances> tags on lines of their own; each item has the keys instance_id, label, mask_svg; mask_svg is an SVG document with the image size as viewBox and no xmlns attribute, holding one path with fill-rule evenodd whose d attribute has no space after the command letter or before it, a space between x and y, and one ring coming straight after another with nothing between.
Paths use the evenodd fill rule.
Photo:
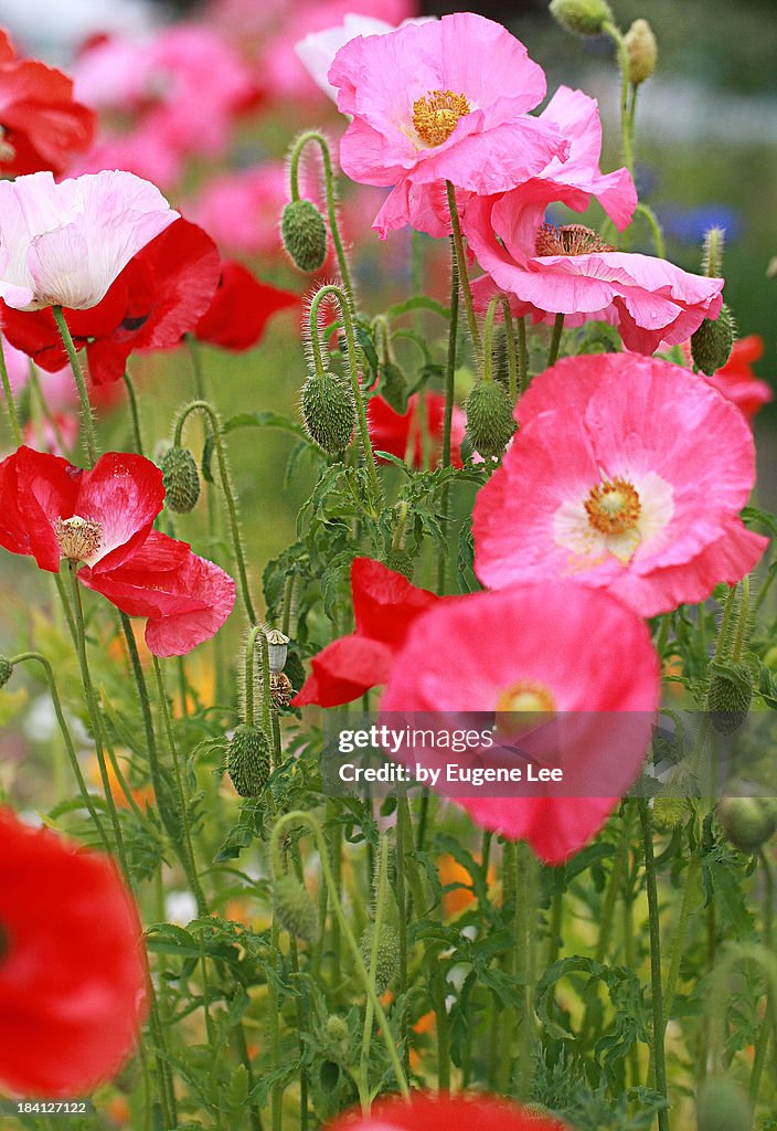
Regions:
<instances>
[{"instance_id":1,"label":"small blurred red poppy just left of the upper drooping buds","mask_svg":"<svg viewBox=\"0 0 777 1131\"><path fill-rule=\"evenodd\" d=\"M194 336L222 349L251 349L273 314L298 303L299 297L290 291L262 283L247 267L225 260L213 301L197 323Z\"/></svg>"}]
</instances>

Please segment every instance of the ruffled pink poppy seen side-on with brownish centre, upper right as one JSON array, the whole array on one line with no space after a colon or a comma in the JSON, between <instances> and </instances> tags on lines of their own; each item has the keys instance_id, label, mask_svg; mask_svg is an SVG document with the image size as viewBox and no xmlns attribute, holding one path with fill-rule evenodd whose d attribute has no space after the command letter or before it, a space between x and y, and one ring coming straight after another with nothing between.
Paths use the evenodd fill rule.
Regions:
<instances>
[{"instance_id":1,"label":"ruffled pink poppy seen side-on with brownish centre, upper right","mask_svg":"<svg viewBox=\"0 0 777 1131\"><path fill-rule=\"evenodd\" d=\"M614 251L579 224L545 224L548 202L547 196L527 202L523 189L468 200L466 240L488 273L473 284L480 308L501 290L515 314L531 314L535 322L565 314L569 326L588 319L614 322L626 347L644 354L661 342L684 342L705 318L719 314L723 279L690 275L653 256Z\"/></svg>"}]
</instances>

